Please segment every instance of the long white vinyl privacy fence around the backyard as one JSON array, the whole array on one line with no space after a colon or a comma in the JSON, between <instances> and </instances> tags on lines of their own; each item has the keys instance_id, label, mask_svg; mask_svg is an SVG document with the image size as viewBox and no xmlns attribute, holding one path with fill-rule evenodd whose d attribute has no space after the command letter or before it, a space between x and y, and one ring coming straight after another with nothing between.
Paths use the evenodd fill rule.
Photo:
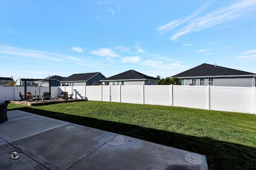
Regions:
<instances>
[{"instance_id":1,"label":"long white vinyl privacy fence around the backyard","mask_svg":"<svg viewBox=\"0 0 256 170\"><path fill-rule=\"evenodd\" d=\"M31 88L31 89L30 89ZM34 92L28 87L28 92ZM52 87L52 96L74 92L73 98L105 102L180 106L198 109L256 114L255 87L227 86L60 86ZM24 87L0 87L0 103L19 100Z\"/></svg>"}]
</instances>

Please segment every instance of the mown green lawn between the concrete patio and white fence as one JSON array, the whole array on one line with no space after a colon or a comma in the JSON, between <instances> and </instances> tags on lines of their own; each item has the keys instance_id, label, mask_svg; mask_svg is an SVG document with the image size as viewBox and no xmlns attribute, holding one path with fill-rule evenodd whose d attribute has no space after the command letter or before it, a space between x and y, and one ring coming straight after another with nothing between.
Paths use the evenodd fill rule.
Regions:
<instances>
[{"instance_id":1,"label":"mown green lawn between the concrete patio and white fence","mask_svg":"<svg viewBox=\"0 0 256 170\"><path fill-rule=\"evenodd\" d=\"M204 154L210 170L256 169L256 115L96 101L13 109Z\"/></svg>"}]
</instances>

